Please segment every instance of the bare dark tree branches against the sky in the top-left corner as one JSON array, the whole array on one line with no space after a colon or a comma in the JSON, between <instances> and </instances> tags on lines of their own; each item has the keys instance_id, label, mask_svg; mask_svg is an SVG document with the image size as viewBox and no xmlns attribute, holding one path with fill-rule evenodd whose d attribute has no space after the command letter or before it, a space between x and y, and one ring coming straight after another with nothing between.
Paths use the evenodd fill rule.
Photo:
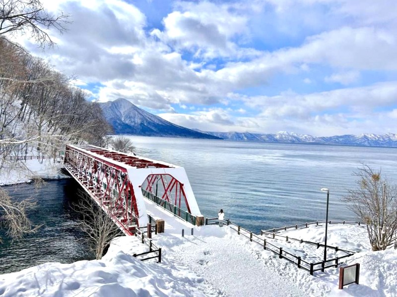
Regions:
<instances>
[{"instance_id":1,"label":"bare dark tree branches against the sky in the top-left corner","mask_svg":"<svg viewBox=\"0 0 397 297\"><path fill-rule=\"evenodd\" d=\"M54 42L46 29L66 30L69 16L49 14L40 0L0 0L0 39L17 32L30 34L40 46L53 46Z\"/></svg>"}]
</instances>

